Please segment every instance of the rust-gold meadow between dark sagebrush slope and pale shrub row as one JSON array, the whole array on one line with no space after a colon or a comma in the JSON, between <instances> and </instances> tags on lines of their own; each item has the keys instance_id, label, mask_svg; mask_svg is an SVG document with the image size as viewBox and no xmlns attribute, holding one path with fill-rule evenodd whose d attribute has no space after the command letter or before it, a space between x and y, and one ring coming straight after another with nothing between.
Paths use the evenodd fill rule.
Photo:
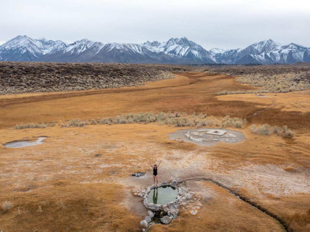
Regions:
<instances>
[{"instance_id":1,"label":"rust-gold meadow between dark sagebrush slope and pale shrub row","mask_svg":"<svg viewBox=\"0 0 310 232\"><path fill-rule=\"evenodd\" d=\"M241 101L219 102L215 98L215 93L222 88L223 84L232 89L251 89L251 87L235 83L231 77L206 76L201 73L184 75L188 77L179 76L176 79L162 80L137 88L98 90L91 95L87 95L89 94L87 91L78 92L79 97L70 97L70 93L64 95L60 93L58 97L64 98L54 100L49 100L51 96L55 97L51 93L39 95L39 98L37 94L33 97L30 94L25 95L25 103L20 97L12 99L1 96L1 101L9 101L10 105L0 106L0 128L15 126L21 122L54 122L73 118L90 120L97 117L148 111L204 112L208 115L230 115L243 118L257 109L252 105L245 108ZM108 91L108 94L105 94L105 91ZM82 95L83 93L85 95ZM46 101L44 101L45 98ZM15 100L18 103L14 104Z\"/></svg>"}]
</instances>

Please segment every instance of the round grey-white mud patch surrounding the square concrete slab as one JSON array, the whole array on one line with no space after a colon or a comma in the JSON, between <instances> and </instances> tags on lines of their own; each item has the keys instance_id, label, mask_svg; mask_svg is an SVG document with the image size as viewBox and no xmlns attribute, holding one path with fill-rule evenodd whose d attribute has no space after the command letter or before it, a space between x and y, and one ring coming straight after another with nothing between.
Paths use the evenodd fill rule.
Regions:
<instances>
[{"instance_id":1,"label":"round grey-white mud patch surrounding the square concrete slab","mask_svg":"<svg viewBox=\"0 0 310 232\"><path fill-rule=\"evenodd\" d=\"M209 130L226 131L223 135L207 134ZM228 130L226 128L200 128L200 129L184 129L171 133L171 140L179 140L188 143L194 143L199 146L213 146L218 142L237 143L244 140L245 136L240 131Z\"/></svg>"}]
</instances>

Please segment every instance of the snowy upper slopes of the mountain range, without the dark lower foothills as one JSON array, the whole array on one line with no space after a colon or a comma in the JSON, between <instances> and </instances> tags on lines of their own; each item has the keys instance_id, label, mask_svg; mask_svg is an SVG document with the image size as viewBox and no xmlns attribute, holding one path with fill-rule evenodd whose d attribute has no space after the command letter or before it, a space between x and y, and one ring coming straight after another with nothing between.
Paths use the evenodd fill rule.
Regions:
<instances>
[{"instance_id":1,"label":"snowy upper slopes of the mountain range, without the dark lower foothills","mask_svg":"<svg viewBox=\"0 0 310 232\"><path fill-rule=\"evenodd\" d=\"M103 50L104 49L104 50ZM273 40L264 40L245 49L219 49L212 48L209 51L202 48L201 45L188 40L186 37L170 38L166 42L147 41L142 44L135 43L102 43L82 39L67 44L60 40L47 40L45 38L33 39L28 36L17 36L0 46L0 60L7 58L3 54L9 54L11 57L21 57L21 54L29 57L40 58L45 54L68 53L78 55L85 51L90 51L92 55L99 51L108 52L112 49L119 49L121 52L128 51L135 54L146 55L149 52L165 53L167 55L184 58L190 61L217 62L217 63L234 63L242 59L242 62L252 62L254 58L260 63L286 63L303 61L304 54L310 54L310 48L302 45L290 43L281 45ZM31 55L29 55L31 54ZM249 55L250 60L246 58ZM9 57L10 57L9 56ZM10 59L12 59L10 57Z\"/></svg>"}]
</instances>

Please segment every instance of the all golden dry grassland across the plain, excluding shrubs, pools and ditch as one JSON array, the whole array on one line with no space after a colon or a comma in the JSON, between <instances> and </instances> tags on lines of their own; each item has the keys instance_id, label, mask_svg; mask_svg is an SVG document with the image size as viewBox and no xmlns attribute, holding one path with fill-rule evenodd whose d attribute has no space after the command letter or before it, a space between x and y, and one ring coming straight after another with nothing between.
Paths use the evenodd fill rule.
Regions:
<instances>
[{"instance_id":1,"label":"all golden dry grassland across the plain, excluding shrubs, pools and ditch","mask_svg":"<svg viewBox=\"0 0 310 232\"><path fill-rule=\"evenodd\" d=\"M22 130L12 127L21 122L90 120L148 111L196 111L243 118L272 104L272 99L253 94L217 96L223 85L232 90L252 88L225 75L188 73L137 88L90 90L78 92L78 96L1 96L0 102L5 103L0 106L1 144L33 136L48 138L33 147L0 147L0 203L9 200L14 204L8 212L0 212L0 230L141 230L139 221L146 209L141 199L132 195L131 188L150 185L147 161L163 160L159 182L176 177L211 178L281 217L294 231L308 231L310 126L303 121L309 112L306 94L272 96L276 100L272 108L249 118L251 123L288 122L295 132L294 139L253 134L250 124L236 129L243 132L244 141L213 147L171 141L169 133L178 128L157 123L68 128L56 124ZM298 104L299 114L292 119ZM273 116L275 112L278 118ZM286 167L294 167L295 171L287 171ZM130 177L135 171L146 171L146 177ZM205 182L189 187L202 196L203 207L198 214L181 210L180 221L152 226L151 231L281 231L277 221L227 191ZM39 205L42 213L38 212ZM51 222L57 223L51 226Z\"/></svg>"}]
</instances>

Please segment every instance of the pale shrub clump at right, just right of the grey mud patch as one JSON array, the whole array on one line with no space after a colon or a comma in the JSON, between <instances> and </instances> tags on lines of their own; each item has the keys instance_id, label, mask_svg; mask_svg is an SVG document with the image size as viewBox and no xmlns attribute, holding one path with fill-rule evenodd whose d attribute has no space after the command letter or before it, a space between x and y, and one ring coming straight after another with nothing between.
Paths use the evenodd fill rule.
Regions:
<instances>
[{"instance_id":1,"label":"pale shrub clump at right, just right of the grey mud patch","mask_svg":"<svg viewBox=\"0 0 310 232\"><path fill-rule=\"evenodd\" d=\"M271 135L271 134L277 134L284 138L293 138L294 133L291 131L287 126L283 127L277 127L277 126L270 126L269 124L264 125L256 125L252 124L250 126L250 131L255 134L260 135Z\"/></svg>"}]
</instances>

